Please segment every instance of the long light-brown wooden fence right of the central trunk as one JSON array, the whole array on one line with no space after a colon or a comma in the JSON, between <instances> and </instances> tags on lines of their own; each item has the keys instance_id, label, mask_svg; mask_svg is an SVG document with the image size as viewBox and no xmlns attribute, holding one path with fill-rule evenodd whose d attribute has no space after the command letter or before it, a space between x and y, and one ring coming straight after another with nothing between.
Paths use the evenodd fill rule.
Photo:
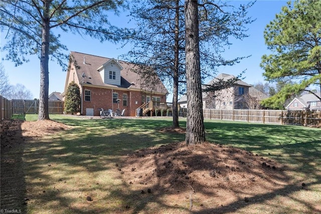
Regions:
<instances>
[{"instance_id":1,"label":"long light-brown wooden fence right of the central trunk","mask_svg":"<svg viewBox=\"0 0 321 214\"><path fill-rule=\"evenodd\" d=\"M320 111L285 110L216 110L203 109L204 119L244 121L266 124L321 126ZM181 108L179 116L186 117L187 109Z\"/></svg>"}]
</instances>

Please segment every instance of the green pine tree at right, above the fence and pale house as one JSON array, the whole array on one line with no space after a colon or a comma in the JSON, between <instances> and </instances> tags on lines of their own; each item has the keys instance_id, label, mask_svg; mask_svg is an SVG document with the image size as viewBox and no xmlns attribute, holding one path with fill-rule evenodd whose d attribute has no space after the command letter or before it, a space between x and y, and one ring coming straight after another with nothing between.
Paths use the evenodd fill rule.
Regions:
<instances>
[{"instance_id":1,"label":"green pine tree at right, above the fence and pale house","mask_svg":"<svg viewBox=\"0 0 321 214\"><path fill-rule=\"evenodd\" d=\"M264 38L270 55L263 55L263 75L271 82L286 83L275 95L263 101L279 106L307 87L321 90L321 1L288 2L265 28Z\"/></svg>"}]
</instances>

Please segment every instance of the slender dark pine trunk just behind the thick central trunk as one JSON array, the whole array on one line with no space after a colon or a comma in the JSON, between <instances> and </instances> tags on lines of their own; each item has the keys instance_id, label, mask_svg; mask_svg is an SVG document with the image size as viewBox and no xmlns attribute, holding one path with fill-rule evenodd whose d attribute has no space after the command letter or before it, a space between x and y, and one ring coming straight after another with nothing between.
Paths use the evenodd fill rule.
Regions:
<instances>
[{"instance_id":1,"label":"slender dark pine trunk just behind the thick central trunk","mask_svg":"<svg viewBox=\"0 0 321 214\"><path fill-rule=\"evenodd\" d=\"M176 12L175 12L175 45L174 45L174 88L173 88L173 127L180 127L179 114L178 114L178 92L179 92L179 17L180 8L179 0L176 0Z\"/></svg>"}]
</instances>

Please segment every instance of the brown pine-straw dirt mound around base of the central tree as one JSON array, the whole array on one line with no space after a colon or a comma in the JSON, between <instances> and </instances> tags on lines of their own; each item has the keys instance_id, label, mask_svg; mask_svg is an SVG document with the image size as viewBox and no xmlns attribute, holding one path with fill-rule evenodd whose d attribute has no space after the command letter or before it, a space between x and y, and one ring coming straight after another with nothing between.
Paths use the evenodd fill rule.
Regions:
<instances>
[{"instance_id":1,"label":"brown pine-straw dirt mound around base of the central tree","mask_svg":"<svg viewBox=\"0 0 321 214\"><path fill-rule=\"evenodd\" d=\"M132 190L166 195L176 204L190 203L190 208L213 207L214 201L220 203L215 206L224 206L240 197L248 202L287 181L283 167L273 160L210 143L142 149L129 154L121 166L118 170Z\"/></svg>"}]
</instances>

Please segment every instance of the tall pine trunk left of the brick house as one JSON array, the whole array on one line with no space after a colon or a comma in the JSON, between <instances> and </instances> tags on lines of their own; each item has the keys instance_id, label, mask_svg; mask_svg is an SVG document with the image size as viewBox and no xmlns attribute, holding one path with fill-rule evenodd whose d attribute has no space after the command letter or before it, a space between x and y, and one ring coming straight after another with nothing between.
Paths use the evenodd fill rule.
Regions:
<instances>
[{"instance_id":1,"label":"tall pine trunk left of the brick house","mask_svg":"<svg viewBox=\"0 0 321 214\"><path fill-rule=\"evenodd\" d=\"M49 8L51 1L44 1L44 17L42 26L42 44L40 56L40 96L38 120L49 120L48 98L49 98Z\"/></svg>"}]
</instances>

